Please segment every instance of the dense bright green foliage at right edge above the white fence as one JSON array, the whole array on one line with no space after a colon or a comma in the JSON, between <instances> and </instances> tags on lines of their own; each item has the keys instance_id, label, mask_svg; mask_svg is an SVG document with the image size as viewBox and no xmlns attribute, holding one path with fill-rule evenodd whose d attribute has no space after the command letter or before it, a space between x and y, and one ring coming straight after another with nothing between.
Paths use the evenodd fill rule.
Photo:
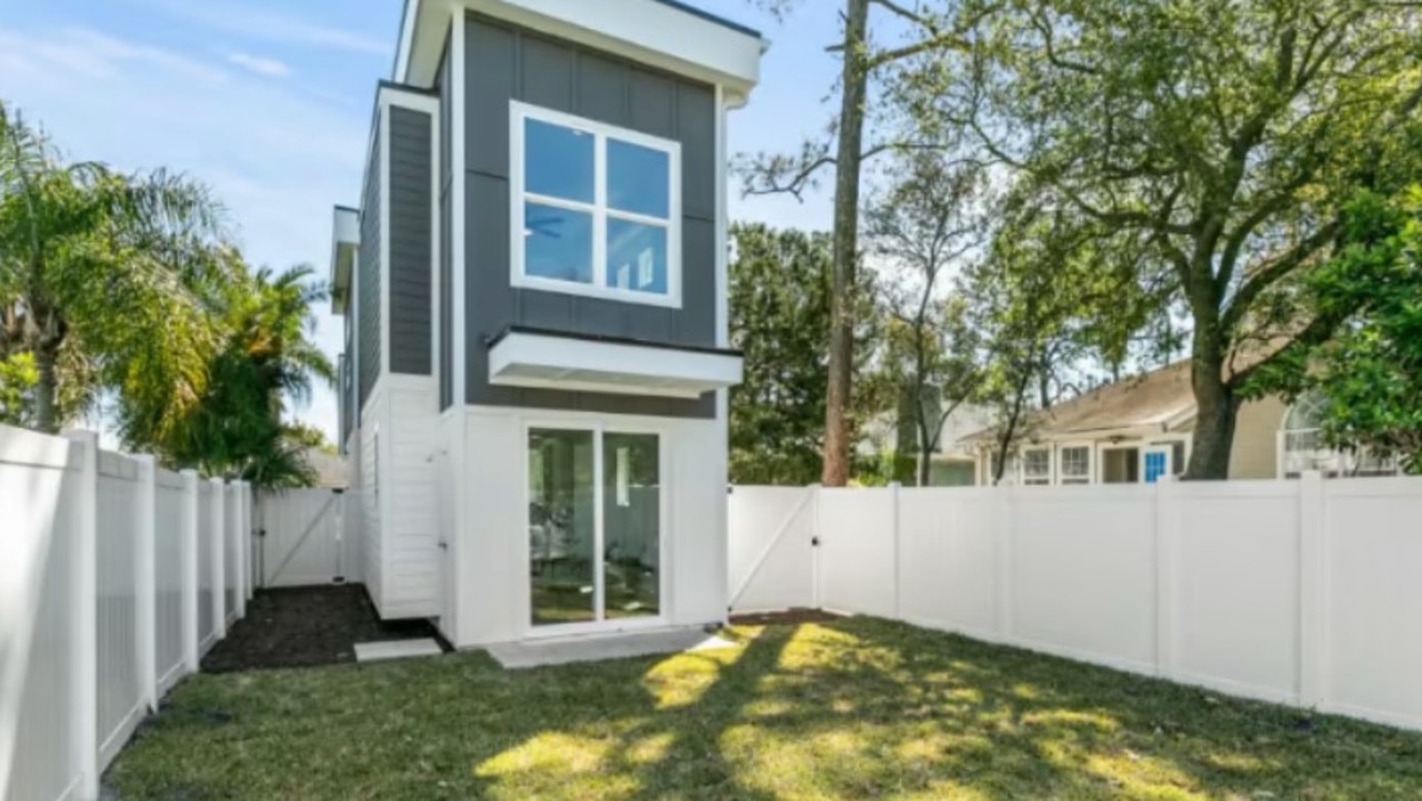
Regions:
<instances>
[{"instance_id":1,"label":"dense bright green foliage at right edge above the white fence","mask_svg":"<svg viewBox=\"0 0 1422 801\"><path fill-rule=\"evenodd\" d=\"M1338 252L1300 296L1310 319L1337 333L1285 349L1251 376L1247 396L1318 397L1327 445L1396 455L1422 474L1422 188L1395 199L1359 192Z\"/></svg>"}]
</instances>

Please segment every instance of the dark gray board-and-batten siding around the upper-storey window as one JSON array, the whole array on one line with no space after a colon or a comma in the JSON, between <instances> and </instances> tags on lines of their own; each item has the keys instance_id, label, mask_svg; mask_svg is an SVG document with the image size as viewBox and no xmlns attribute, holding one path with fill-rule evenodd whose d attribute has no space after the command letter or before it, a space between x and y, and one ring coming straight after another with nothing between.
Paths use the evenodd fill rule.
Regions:
<instances>
[{"instance_id":1,"label":"dark gray board-and-batten siding around the upper-storey window","mask_svg":"<svg viewBox=\"0 0 1422 801\"><path fill-rule=\"evenodd\" d=\"M474 14L465 20L465 37L466 403L714 417L714 394L700 400L677 400L491 386L486 343L509 326L529 326L680 346L717 344L715 90ZM441 85L449 84L448 68L442 68ZM448 91L441 95L448 95ZM510 285L512 100L681 144L681 309L518 289ZM448 97L442 97L441 105L448 108ZM449 161L445 159L445 164ZM449 205L447 198L441 203ZM448 208L442 213L448 219ZM449 253L445 248L442 262L441 270L448 273ZM441 336L447 334L441 331ZM452 400L445 387L452 384L454 364L441 360L439 367L444 407Z\"/></svg>"}]
</instances>

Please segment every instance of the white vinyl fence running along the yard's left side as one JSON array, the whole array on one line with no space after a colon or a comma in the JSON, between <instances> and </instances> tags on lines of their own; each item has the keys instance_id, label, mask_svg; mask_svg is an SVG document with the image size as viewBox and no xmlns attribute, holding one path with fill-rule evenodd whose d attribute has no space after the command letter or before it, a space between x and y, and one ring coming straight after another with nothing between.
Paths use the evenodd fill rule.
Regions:
<instances>
[{"instance_id":1,"label":"white vinyl fence running along the yard's left side","mask_svg":"<svg viewBox=\"0 0 1422 801\"><path fill-rule=\"evenodd\" d=\"M98 798L142 717L242 616L250 498L92 434L0 425L0 800Z\"/></svg>"}]
</instances>

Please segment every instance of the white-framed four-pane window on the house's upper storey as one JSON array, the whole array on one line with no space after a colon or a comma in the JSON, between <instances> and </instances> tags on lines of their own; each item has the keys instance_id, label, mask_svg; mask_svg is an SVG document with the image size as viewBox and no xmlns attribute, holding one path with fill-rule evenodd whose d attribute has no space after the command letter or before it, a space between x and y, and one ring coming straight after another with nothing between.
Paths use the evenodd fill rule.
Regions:
<instances>
[{"instance_id":1,"label":"white-framed four-pane window on the house's upper storey","mask_svg":"<svg viewBox=\"0 0 1422 801\"><path fill-rule=\"evenodd\" d=\"M513 286L681 307L681 145L512 101Z\"/></svg>"}]
</instances>

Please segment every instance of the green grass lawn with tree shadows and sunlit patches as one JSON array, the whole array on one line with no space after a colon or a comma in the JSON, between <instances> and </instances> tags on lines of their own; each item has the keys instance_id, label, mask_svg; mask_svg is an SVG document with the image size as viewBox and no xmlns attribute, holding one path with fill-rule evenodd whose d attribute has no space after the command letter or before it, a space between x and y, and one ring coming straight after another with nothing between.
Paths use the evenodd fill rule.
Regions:
<instances>
[{"instance_id":1,"label":"green grass lawn with tree shadows and sunlit patches","mask_svg":"<svg viewBox=\"0 0 1422 801\"><path fill-rule=\"evenodd\" d=\"M198 676L129 800L1422 798L1422 736L873 619L505 673L482 654Z\"/></svg>"}]
</instances>

